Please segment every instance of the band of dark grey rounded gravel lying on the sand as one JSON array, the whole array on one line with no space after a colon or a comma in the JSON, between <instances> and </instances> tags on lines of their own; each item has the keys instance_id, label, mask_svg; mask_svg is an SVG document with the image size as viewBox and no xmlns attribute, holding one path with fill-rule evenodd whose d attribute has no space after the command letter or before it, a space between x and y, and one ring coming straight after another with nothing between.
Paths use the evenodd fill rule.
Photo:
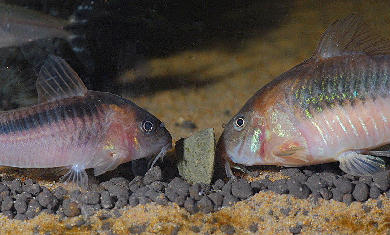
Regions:
<instances>
[{"instance_id":1,"label":"band of dark grey rounded gravel lying on the sand","mask_svg":"<svg viewBox=\"0 0 390 235\"><path fill-rule=\"evenodd\" d=\"M93 184L86 193L75 190L65 197L67 199L64 199L67 192L62 187L51 192L32 179L22 182L13 177L3 176L0 181L0 206L4 215L18 220L31 219L42 212L67 217L78 215L88 217L102 209L105 211L100 218L105 219L120 217L119 208L152 202L160 205L176 203L190 213L199 211L210 213L219 211L222 207L233 206L258 192L269 190L314 202L323 198L341 201L347 205L354 201L364 203L369 198L375 199L382 194L390 197L390 171L362 177L337 175L331 171L324 173L309 169L301 171L300 168L283 169L282 173L289 179L273 182L269 179L260 179L251 183L245 179L229 179L227 182L217 179L211 185L204 183L192 185L179 177L172 180L164 178L164 171L157 166L144 176L137 176L132 180L116 177L100 184ZM253 174L255 175L257 173ZM285 216L292 216L288 207L279 210ZM84 223L84 220L80 220L77 226ZM297 224L290 227L290 232L299 233L301 229L302 227ZM129 228L132 232L136 230ZM250 231L256 230L257 224L251 225ZM234 228L227 226L222 231L225 234L234 233Z\"/></svg>"}]
</instances>

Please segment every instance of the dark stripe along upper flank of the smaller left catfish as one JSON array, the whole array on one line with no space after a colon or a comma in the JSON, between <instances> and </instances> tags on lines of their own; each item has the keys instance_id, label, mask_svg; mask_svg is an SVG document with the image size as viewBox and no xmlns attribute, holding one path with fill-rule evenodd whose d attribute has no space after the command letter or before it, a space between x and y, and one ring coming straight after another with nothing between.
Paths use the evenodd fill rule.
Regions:
<instances>
[{"instance_id":1,"label":"dark stripe along upper flank of the smaller left catfish","mask_svg":"<svg viewBox=\"0 0 390 235\"><path fill-rule=\"evenodd\" d=\"M61 105L60 102L53 102L44 106L42 110L41 106L36 106L34 109L37 113L22 115L16 112L26 112L25 110L16 111L10 115L13 117L19 116L19 118L9 119L0 123L0 134L9 134L14 132L28 131L39 126L50 125L53 122L59 122L60 120L66 120L68 118L82 118L88 117L93 119L98 117L102 107L96 106L95 100L78 100L65 105Z\"/></svg>"}]
</instances>

